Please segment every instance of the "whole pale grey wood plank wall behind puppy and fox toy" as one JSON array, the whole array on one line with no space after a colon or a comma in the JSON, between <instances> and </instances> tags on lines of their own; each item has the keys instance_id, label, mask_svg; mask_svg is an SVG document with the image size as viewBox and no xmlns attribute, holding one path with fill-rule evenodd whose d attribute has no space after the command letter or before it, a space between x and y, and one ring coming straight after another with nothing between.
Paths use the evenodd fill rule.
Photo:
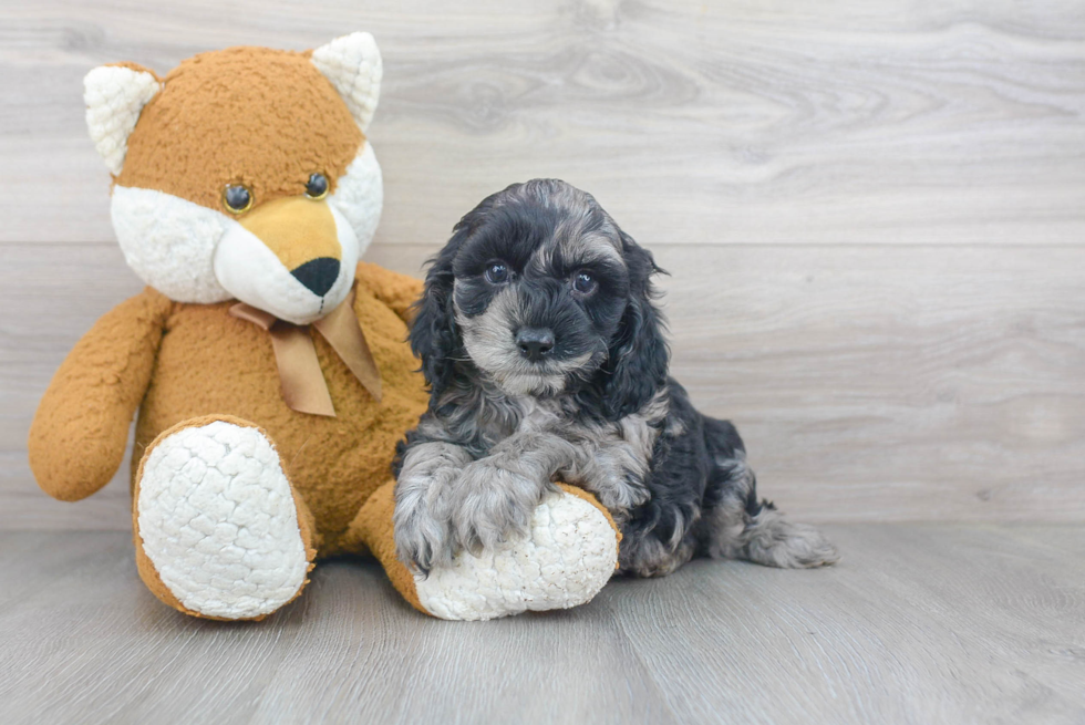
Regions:
<instances>
[{"instance_id":1,"label":"whole pale grey wood plank wall behind puppy and fox toy","mask_svg":"<svg viewBox=\"0 0 1085 725\"><path fill-rule=\"evenodd\" d=\"M1079 0L38 0L0 7L0 528L128 528L25 463L38 398L140 283L81 80L360 29L384 54L369 259L485 195L593 193L655 252L674 372L806 520L1085 520Z\"/></svg>"}]
</instances>

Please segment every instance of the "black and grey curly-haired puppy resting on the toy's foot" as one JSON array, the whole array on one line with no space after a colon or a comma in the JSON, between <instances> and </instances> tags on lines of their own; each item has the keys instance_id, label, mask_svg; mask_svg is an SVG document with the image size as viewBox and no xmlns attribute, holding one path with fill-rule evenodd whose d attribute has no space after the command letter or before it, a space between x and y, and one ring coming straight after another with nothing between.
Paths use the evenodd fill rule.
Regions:
<instances>
[{"instance_id":1,"label":"black and grey curly-haired puppy resting on the toy's foot","mask_svg":"<svg viewBox=\"0 0 1085 725\"><path fill-rule=\"evenodd\" d=\"M662 576L699 555L837 560L758 500L735 427L668 375L660 271L559 180L509 186L456 225L411 329L431 398L395 463L404 562L428 572L525 531L557 479L610 510L622 572Z\"/></svg>"}]
</instances>

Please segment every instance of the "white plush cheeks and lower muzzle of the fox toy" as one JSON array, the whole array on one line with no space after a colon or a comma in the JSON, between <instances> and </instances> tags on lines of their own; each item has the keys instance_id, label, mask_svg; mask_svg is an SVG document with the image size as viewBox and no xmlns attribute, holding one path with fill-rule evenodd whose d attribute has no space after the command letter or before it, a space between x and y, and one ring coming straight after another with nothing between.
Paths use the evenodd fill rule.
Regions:
<instances>
[{"instance_id":1,"label":"white plush cheeks and lower muzzle of the fox toy","mask_svg":"<svg viewBox=\"0 0 1085 725\"><path fill-rule=\"evenodd\" d=\"M169 299L196 304L238 299L282 320L308 324L350 292L383 203L381 167L365 143L328 197L342 258L339 277L323 298L224 211L154 189L116 186L111 214L125 261Z\"/></svg>"}]
</instances>

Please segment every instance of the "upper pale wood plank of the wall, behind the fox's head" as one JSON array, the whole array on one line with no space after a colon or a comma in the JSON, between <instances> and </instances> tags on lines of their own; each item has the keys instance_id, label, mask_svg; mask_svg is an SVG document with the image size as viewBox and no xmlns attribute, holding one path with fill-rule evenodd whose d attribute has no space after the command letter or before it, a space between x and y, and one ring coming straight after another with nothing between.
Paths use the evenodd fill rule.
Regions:
<instances>
[{"instance_id":1,"label":"upper pale wood plank of the wall, behind the fox's head","mask_svg":"<svg viewBox=\"0 0 1085 725\"><path fill-rule=\"evenodd\" d=\"M41 0L0 10L0 240L110 241L81 79L372 31L386 241L536 176L657 244L1077 244L1078 0ZM46 191L48 190L48 191ZM48 193L48 208L42 194Z\"/></svg>"}]
</instances>

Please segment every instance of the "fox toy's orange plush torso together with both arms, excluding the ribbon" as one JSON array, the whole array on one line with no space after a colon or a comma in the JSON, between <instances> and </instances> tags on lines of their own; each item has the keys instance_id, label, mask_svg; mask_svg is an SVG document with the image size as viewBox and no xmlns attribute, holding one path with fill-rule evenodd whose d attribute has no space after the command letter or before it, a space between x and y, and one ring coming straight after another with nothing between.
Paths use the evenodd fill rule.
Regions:
<instances>
[{"instance_id":1,"label":"fox toy's orange plush torso together with both arms, excluding the ribbon","mask_svg":"<svg viewBox=\"0 0 1085 725\"><path fill-rule=\"evenodd\" d=\"M343 534L388 480L395 443L417 423L427 395L405 343L407 300L421 293L422 282L366 262L358 269L354 311L381 371L380 403L311 332L338 415L291 411L282 402L267 332L231 317L231 302L183 304L147 288L97 322L42 398L29 446L42 488L79 500L108 483L141 402L133 486L144 450L158 435L215 412L258 423L276 443L312 512L319 556L363 550L356 538L344 549Z\"/></svg>"}]
</instances>

